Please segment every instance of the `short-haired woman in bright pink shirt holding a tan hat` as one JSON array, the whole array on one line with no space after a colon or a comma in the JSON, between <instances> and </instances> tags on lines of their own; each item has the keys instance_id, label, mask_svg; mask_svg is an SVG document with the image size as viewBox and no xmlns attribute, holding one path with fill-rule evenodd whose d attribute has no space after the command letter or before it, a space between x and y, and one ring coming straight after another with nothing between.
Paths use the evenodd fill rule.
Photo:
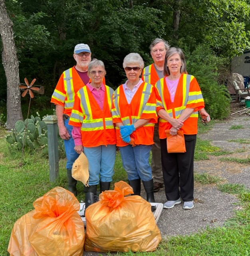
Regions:
<instances>
[{"instance_id":1,"label":"short-haired woman in bright pink shirt holding a tan hat","mask_svg":"<svg viewBox=\"0 0 250 256\"><path fill-rule=\"evenodd\" d=\"M113 89L103 84L106 71L101 60L93 59L88 67L89 83L75 95L69 124L75 151L84 152L89 162L89 187L85 187L85 209L95 202L97 184L109 190L114 173L116 136L111 116Z\"/></svg>"}]
</instances>

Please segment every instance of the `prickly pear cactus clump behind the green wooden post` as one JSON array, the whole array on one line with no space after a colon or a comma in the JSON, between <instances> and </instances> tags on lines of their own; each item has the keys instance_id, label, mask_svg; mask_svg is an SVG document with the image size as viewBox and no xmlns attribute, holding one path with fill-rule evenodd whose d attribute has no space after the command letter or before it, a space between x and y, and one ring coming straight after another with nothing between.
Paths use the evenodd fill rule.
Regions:
<instances>
[{"instance_id":1,"label":"prickly pear cactus clump behind the green wooden post","mask_svg":"<svg viewBox=\"0 0 250 256\"><path fill-rule=\"evenodd\" d=\"M12 133L6 135L5 138L6 142L10 144L10 151L20 151L23 146L24 148L30 148L31 150L41 148L42 153L48 156L47 125L44 121L41 121L38 112L36 117L31 116L30 119L26 119L24 122L21 120L17 121L15 130L12 130ZM58 140L59 156L60 158L63 158L65 157L64 144L60 137L58 137Z\"/></svg>"}]
</instances>

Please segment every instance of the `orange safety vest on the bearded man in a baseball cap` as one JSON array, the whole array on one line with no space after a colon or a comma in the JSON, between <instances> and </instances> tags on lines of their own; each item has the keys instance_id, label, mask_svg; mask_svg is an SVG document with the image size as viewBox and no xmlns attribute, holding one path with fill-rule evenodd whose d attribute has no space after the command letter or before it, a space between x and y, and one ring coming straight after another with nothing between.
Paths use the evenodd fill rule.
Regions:
<instances>
[{"instance_id":1,"label":"orange safety vest on the bearded man in a baseball cap","mask_svg":"<svg viewBox=\"0 0 250 256\"><path fill-rule=\"evenodd\" d=\"M74 67L62 73L51 98L52 103L64 107L63 114L67 114L68 116L71 115L75 94L80 88L85 86ZM91 82L91 80L89 80L89 82ZM103 84L105 84L104 77Z\"/></svg>"}]
</instances>

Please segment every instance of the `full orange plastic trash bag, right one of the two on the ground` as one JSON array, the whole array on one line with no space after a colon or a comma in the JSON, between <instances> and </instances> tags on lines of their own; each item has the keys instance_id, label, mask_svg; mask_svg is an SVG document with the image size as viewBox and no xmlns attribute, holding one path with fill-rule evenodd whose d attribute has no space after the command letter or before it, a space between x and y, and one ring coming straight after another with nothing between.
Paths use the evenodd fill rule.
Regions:
<instances>
[{"instance_id":1,"label":"full orange plastic trash bag, right one of the two on the ground","mask_svg":"<svg viewBox=\"0 0 250 256\"><path fill-rule=\"evenodd\" d=\"M131 186L119 181L115 190L102 192L99 202L86 209L86 251L151 252L157 248L161 233L151 204L128 194L133 194Z\"/></svg>"}]
</instances>

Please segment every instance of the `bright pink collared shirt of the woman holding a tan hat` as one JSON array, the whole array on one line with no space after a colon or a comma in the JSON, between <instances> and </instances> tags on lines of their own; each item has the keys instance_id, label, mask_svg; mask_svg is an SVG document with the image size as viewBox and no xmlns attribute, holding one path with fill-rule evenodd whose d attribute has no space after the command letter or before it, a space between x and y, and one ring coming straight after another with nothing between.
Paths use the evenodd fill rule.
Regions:
<instances>
[{"instance_id":1,"label":"bright pink collared shirt of the woman holding a tan hat","mask_svg":"<svg viewBox=\"0 0 250 256\"><path fill-rule=\"evenodd\" d=\"M105 96L105 86L104 84L101 85L99 90L92 87L91 84L87 83L86 86L89 88L90 92L92 93L94 99L96 100L97 104L103 110L104 105L104 96ZM75 142L75 146L82 145L81 141L81 126L73 126L72 130L72 137Z\"/></svg>"}]
</instances>

